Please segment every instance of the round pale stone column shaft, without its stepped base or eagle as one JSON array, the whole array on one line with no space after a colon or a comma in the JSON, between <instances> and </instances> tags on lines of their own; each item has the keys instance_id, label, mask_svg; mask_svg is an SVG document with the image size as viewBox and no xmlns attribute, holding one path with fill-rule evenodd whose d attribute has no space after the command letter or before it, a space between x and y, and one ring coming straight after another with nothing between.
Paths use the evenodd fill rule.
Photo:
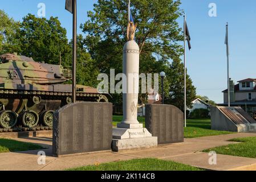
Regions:
<instances>
[{"instance_id":1,"label":"round pale stone column shaft, without its stepped base or eagle","mask_svg":"<svg viewBox=\"0 0 256 182\"><path fill-rule=\"evenodd\" d=\"M127 78L126 88L123 81L123 121L119 128L142 128L137 121L137 105L139 93L139 61L140 49L134 40L128 41L123 48L123 73Z\"/></svg>"}]
</instances>

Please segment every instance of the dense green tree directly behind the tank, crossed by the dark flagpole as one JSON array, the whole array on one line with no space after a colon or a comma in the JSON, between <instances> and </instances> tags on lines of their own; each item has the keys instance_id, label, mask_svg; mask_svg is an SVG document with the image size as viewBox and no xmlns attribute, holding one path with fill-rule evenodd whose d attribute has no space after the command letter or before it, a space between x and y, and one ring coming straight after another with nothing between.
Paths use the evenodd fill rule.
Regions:
<instances>
[{"instance_id":1,"label":"dense green tree directly behind the tank, crossed by the dark flagpole","mask_svg":"<svg viewBox=\"0 0 256 182\"><path fill-rule=\"evenodd\" d=\"M48 64L59 64L61 60L64 67L72 67L72 40L68 43L67 31L58 18L36 18L31 14L25 16L18 39L22 55ZM86 51L82 35L78 35L77 42L76 82L96 87L99 71L95 61Z\"/></svg>"}]
</instances>

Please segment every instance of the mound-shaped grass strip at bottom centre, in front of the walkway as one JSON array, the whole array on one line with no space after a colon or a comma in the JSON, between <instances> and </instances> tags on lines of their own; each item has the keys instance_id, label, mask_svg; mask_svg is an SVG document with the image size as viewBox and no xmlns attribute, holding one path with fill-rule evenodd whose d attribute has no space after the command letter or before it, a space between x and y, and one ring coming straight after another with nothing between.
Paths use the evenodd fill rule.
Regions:
<instances>
[{"instance_id":1,"label":"mound-shaped grass strip at bottom centre, in front of the walkway","mask_svg":"<svg viewBox=\"0 0 256 182\"><path fill-rule=\"evenodd\" d=\"M95 164L70 171L203 171L203 169L160 159L133 159L127 161Z\"/></svg>"}]
</instances>

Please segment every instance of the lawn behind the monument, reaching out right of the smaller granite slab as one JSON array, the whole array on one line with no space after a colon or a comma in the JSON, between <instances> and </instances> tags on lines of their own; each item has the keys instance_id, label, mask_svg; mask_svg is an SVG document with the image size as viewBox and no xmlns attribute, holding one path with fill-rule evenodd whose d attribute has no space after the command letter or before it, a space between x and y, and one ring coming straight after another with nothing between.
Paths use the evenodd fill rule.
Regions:
<instances>
[{"instance_id":1,"label":"lawn behind the monument, reaching out right of the smaller granite slab","mask_svg":"<svg viewBox=\"0 0 256 182\"><path fill-rule=\"evenodd\" d=\"M123 120L123 115L113 115L113 127ZM138 121L145 127L145 118L138 117ZM214 135L231 134L229 131L211 130L210 119L188 119L187 127L184 128L185 138L197 138Z\"/></svg>"}]
</instances>

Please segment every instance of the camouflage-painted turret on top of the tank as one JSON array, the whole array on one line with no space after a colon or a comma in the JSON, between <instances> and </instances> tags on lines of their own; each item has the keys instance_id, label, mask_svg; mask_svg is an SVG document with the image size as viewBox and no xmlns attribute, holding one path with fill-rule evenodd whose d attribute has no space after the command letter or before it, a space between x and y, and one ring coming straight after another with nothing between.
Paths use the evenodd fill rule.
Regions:
<instances>
[{"instance_id":1,"label":"camouflage-painted turret on top of the tank","mask_svg":"<svg viewBox=\"0 0 256 182\"><path fill-rule=\"evenodd\" d=\"M61 65L38 63L32 58L5 54L1 56L0 83L57 84L71 78L71 71Z\"/></svg>"}]
</instances>

